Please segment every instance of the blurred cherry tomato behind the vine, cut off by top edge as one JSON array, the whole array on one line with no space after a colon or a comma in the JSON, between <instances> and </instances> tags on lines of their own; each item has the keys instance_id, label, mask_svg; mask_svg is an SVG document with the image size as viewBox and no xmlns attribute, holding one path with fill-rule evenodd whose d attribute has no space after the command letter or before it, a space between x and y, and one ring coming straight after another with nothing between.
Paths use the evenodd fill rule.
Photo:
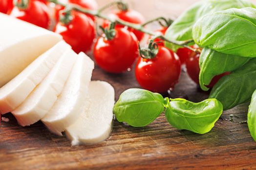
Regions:
<instances>
[{"instance_id":1,"label":"blurred cherry tomato behind the vine, cut off by top edge","mask_svg":"<svg viewBox=\"0 0 256 170\"><path fill-rule=\"evenodd\" d=\"M65 3L75 3L77 5L82 6L83 8L90 9L90 10L96 10L98 9L98 4L95 0L61 0L62 2L66 1ZM56 21L59 21L60 11L63 10L64 7L61 5L55 6L55 19ZM94 20L95 18L91 15L87 15Z\"/></svg>"}]
</instances>

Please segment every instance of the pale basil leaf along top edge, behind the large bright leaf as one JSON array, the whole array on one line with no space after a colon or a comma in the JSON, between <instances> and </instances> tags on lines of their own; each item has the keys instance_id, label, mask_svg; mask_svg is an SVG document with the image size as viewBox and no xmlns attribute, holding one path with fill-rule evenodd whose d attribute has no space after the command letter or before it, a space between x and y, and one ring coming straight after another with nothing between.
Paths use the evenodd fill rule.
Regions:
<instances>
[{"instance_id":1,"label":"pale basil leaf along top edge, behind the large bright leaf","mask_svg":"<svg viewBox=\"0 0 256 170\"><path fill-rule=\"evenodd\" d=\"M171 40L185 41L192 39L192 28L194 23L206 14L229 8L255 7L248 0L202 0L195 3L178 17L166 32L166 36ZM177 49L171 43L166 42L166 47L175 51Z\"/></svg>"}]
</instances>

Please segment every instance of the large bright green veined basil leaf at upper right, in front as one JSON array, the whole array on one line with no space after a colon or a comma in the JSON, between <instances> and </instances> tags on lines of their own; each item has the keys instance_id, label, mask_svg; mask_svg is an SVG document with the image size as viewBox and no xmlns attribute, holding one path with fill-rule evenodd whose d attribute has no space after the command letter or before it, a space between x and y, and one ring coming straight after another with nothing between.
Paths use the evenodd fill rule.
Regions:
<instances>
[{"instance_id":1,"label":"large bright green veined basil leaf at upper right, in front","mask_svg":"<svg viewBox=\"0 0 256 170\"><path fill-rule=\"evenodd\" d=\"M256 57L256 9L228 9L201 17L193 39L202 47L243 57Z\"/></svg>"}]
</instances>

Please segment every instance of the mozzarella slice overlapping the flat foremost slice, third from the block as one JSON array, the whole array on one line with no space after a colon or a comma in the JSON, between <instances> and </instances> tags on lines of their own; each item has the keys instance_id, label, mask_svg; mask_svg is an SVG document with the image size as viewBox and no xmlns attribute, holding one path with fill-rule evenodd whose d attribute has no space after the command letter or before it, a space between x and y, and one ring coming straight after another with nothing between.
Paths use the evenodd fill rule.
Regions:
<instances>
[{"instance_id":1,"label":"mozzarella slice overlapping the flat foremost slice, third from the block","mask_svg":"<svg viewBox=\"0 0 256 170\"><path fill-rule=\"evenodd\" d=\"M73 124L83 112L93 68L93 61L81 52L61 95L41 119L54 134L62 136L65 128Z\"/></svg>"}]
</instances>

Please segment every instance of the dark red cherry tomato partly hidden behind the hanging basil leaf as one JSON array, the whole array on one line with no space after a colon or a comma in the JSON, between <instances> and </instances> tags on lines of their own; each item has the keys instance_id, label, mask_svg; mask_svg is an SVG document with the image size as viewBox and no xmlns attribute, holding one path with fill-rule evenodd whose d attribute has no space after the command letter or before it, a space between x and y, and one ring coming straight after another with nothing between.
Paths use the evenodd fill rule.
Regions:
<instances>
[{"instance_id":1,"label":"dark red cherry tomato partly hidden behind the hanging basil leaf","mask_svg":"<svg viewBox=\"0 0 256 170\"><path fill-rule=\"evenodd\" d=\"M192 52L186 61L187 73L197 85L199 85L199 73L200 73L199 57L200 57L200 53ZM207 85L207 87L212 88L219 81L221 77L227 74L229 74L229 72L213 77L213 80L211 81L210 85Z\"/></svg>"}]
</instances>

